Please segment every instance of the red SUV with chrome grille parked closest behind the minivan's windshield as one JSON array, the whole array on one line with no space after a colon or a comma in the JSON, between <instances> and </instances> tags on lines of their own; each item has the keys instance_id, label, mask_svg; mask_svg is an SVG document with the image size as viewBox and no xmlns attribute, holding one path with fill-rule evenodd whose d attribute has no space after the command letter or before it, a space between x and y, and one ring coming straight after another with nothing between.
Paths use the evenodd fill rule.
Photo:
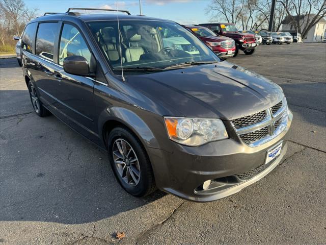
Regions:
<instances>
[{"instance_id":1,"label":"red SUV with chrome grille parked closest behind the minivan's windshield","mask_svg":"<svg viewBox=\"0 0 326 245\"><path fill-rule=\"evenodd\" d=\"M230 58L234 56L236 48L232 38L217 35L205 27L196 25L187 25L185 27L205 42L219 57Z\"/></svg>"}]
</instances>

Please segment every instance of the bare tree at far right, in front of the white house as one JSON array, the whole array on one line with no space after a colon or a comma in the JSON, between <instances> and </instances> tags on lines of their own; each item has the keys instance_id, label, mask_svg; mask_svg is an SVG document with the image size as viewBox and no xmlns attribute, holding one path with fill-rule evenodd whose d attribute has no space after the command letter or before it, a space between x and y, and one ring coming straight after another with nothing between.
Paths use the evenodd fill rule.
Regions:
<instances>
[{"instance_id":1,"label":"bare tree at far right, in front of the white house","mask_svg":"<svg viewBox=\"0 0 326 245\"><path fill-rule=\"evenodd\" d=\"M326 0L278 0L287 18L305 38L310 29L326 16Z\"/></svg>"}]
</instances>

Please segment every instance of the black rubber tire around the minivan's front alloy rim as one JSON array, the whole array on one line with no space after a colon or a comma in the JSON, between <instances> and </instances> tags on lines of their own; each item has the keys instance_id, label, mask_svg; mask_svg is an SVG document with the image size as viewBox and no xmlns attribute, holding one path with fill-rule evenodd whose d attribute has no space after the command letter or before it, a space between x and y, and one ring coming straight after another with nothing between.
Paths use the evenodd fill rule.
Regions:
<instances>
[{"instance_id":1,"label":"black rubber tire around the minivan's front alloy rim","mask_svg":"<svg viewBox=\"0 0 326 245\"><path fill-rule=\"evenodd\" d=\"M114 143L118 139L126 141L137 155L137 159L140 167L140 179L137 185L131 186L126 183L122 176L119 174L117 164L114 160ZM135 197L145 197L156 189L154 174L149 157L144 149L142 142L128 129L117 127L113 129L107 137L107 153L108 159L112 170L119 182L119 184L128 193Z\"/></svg>"}]
</instances>

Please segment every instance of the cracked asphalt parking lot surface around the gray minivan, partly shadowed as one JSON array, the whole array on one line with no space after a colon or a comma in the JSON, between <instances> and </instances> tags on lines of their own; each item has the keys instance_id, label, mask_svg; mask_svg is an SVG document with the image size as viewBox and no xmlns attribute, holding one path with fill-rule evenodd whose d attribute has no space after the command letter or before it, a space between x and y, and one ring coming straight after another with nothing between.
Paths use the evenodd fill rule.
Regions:
<instances>
[{"instance_id":1,"label":"cracked asphalt parking lot surface around the gray minivan, partly shadowed","mask_svg":"<svg viewBox=\"0 0 326 245\"><path fill-rule=\"evenodd\" d=\"M16 59L1 59L0 243L326 243L326 43L262 45L228 61L283 88L294 116L289 149L259 182L193 203L127 194L105 152L33 112Z\"/></svg>"}]
</instances>

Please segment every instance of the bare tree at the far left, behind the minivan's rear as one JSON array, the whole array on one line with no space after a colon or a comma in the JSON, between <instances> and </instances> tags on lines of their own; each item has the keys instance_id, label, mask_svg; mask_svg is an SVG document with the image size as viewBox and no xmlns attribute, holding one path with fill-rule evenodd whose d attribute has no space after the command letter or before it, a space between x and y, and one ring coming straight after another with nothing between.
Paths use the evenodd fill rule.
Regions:
<instances>
[{"instance_id":1,"label":"bare tree at the far left, behind the minivan's rear","mask_svg":"<svg viewBox=\"0 0 326 245\"><path fill-rule=\"evenodd\" d=\"M20 22L25 4L22 0L1 0L0 8L12 21L17 35L20 35Z\"/></svg>"}]
</instances>

